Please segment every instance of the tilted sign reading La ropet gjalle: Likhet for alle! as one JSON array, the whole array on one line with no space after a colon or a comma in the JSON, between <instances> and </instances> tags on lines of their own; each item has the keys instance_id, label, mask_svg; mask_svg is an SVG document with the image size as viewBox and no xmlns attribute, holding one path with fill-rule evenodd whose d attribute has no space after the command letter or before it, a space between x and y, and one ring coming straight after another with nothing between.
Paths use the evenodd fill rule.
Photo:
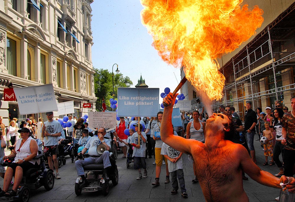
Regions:
<instances>
[{"instance_id":1,"label":"tilted sign reading La ropet gjalle: Likhet for alle!","mask_svg":"<svg viewBox=\"0 0 295 202\"><path fill-rule=\"evenodd\" d=\"M20 114L58 111L52 83L13 89Z\"/></svg>"}]
</instances>

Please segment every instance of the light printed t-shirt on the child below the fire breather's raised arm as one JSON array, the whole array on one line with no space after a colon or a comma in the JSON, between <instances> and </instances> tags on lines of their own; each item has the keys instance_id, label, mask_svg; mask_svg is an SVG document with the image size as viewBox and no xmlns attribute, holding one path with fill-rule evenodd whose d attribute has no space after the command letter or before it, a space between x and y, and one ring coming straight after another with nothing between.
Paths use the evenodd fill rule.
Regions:
<instances>
[{"instance_id":1,"label":"light printed t-shirt on the child below the fire breather's raised arm","mask_svg":"<svg viewBox=\"0 0 295 202\"><path fill-rule=\"evenodd\" d=\"M180 152L177 151L176 149L172 148L171 146L167 145L166 143L163 143L162 149L161 149L161 154L162 155L167 155L171 159L175 159L179 156ZM176 163L173 163L172 161L168 161L168 171L169 172L174 172L178 169L183 169L183 162L182 162L182 156Z\"/></svg>"}]
</instances>

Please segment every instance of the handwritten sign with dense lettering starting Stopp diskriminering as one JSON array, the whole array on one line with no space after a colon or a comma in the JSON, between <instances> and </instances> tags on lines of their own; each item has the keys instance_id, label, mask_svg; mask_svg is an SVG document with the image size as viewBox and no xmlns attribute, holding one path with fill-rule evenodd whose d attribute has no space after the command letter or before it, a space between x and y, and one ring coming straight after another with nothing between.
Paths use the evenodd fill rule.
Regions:
<instances>
[{"instance_id":1,"label":"handwritten sign with dense lettering starting Stopp diskriminering","mask_svg":"<svg viewBox=\"0 0 295 202\"><path fill-rule=\"evenodd\" d=\"M117 125L117 112L115 111L89 111L88 120L91 128L115 128Z\"/></svg>"}]
</instances>

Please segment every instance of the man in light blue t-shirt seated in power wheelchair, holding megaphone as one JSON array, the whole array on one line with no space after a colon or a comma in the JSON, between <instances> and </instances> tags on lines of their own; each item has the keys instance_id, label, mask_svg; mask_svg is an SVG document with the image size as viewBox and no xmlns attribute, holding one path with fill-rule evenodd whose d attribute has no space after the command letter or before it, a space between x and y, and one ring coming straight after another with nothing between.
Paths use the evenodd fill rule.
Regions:
<instances>
[{"instance_id":1,"label":"man in light blue t-shirt seated in power wheelchair, holding megaphone","mask_svg":"<svg viewBox=\"0 0 295 202\"><path fill-rule=\"evenodd\" d=\"M85 148L83 148L83 150L81 151L81 154L83 155L86 153L87 149L89 149L88 150L89 157L85 159L78 159L78 161L75 161L77 175L82 178L82 182L80 183L80 188L86 187L88 185L88 182L86 181L86 178L84 175L84 169L83 169L83 166L88 164L103 163L104 171L103 171L102 177L105 180L109 180L107 172L111 168L111 162L109 159L109 151L111 150L111 141L104 138L104 135L106 135L105 128L99 128L98 130L96 130L94 133L94 136L90 138ZM106 146L106 151L104 151L102 155L99 155L99 153L97 153L96 151L96 148L99 144L104 144Z\"/></svg>"}]
</instances>

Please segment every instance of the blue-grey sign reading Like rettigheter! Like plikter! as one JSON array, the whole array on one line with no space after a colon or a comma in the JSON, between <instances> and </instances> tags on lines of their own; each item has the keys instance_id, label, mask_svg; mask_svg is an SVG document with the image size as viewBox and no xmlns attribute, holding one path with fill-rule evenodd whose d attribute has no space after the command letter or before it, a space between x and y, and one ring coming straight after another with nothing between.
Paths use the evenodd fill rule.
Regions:
<instances>
[{"instance_id":1,"label":"blue-grey sign reading Like rettigheter! Like plikter!","mask_svg":"<svg viewBox=\"0 0 295 202\"><path fill-rule=\"evenodd\" d=\"M159 88L118 88L118 117L155 117Z\"/></svg>"}]
</instances>

